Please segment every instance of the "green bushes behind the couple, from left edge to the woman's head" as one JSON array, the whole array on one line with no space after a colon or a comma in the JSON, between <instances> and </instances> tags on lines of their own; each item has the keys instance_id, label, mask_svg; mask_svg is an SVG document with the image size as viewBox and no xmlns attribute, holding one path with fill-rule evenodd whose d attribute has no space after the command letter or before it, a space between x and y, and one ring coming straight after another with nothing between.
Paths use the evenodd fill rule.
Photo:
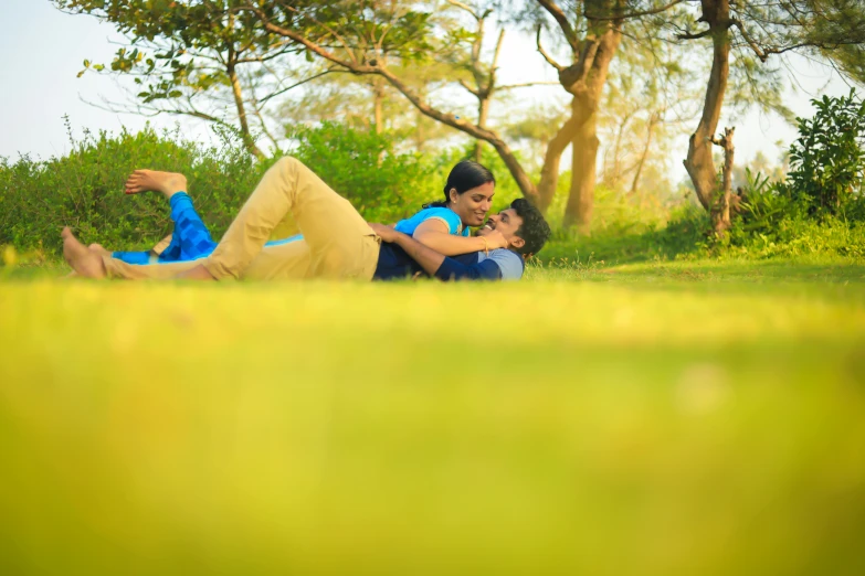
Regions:
<instances>
[{"instance_id":1,"label":"green bushes behind the couple, from left edge to the woman's head","mask_svg":"<svg viewBox=\"0 0 865 576\"><path fill-rule=\"evenodd\" d=\"M219 134L204 147L177 132L85 131L62 158L0 158L0 245L60 254L68 225L85 243L109 249L148 249L171 232L161 194L126 196L136 168L182 172L204 222L219 238L273 159L256 162L239 140ZM435 196L440 184L420 157L393 152L387 135L337 124L298 130L293 152L369 221L394 222ZM275 237L296 232L291 218Z\"/></svg>"}]
</instances>

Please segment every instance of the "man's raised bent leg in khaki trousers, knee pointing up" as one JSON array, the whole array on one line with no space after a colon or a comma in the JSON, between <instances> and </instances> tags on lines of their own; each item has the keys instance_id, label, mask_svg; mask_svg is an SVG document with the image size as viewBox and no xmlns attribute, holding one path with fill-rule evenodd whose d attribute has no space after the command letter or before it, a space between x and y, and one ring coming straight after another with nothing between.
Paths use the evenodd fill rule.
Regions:
<instances>
[{"instance_id":1,"label":"man's raised bent leg in khaki trousers, knee pointing up","mask_svg":"<svg viewBox=\"0 0 865 576\"><path fill-rule=\"evenodd\" d=\"M289 211L309 250L308 276L372 277L378 237L346 199L294 158L264 174L204 268L218 279L240 277Z\"/></svg>"}]
</instances>

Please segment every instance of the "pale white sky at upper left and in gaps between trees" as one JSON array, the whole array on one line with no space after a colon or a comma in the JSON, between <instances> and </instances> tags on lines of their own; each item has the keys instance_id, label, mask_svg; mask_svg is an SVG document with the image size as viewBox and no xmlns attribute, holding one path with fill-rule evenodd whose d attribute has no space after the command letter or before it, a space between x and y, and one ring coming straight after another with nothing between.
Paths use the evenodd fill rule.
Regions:
<instances>
[{"instance_id":1,"label":"pale white sky at upper left and in gaps between trees","mask_svg":"<svg viewBox=\"0 0 865 576\"><path fill-rule=\"evenodd\" d=\"M108 24L86 15L70 15L56 10L49 0L0 0L0 157L31 154L48 159L66 153L71 146L63 116L67 115L73 132L83 129L117 131L127 127L139 130L146 118L107 111L91 103L123 100L115 79L85 74L77 78L85 58L109 63L122 38ZM553 71L544 62L532 42L509 34L500 57L500 79L505 84L530 81L553 81ZM825 66L804 58L793 58L792 68L799 78L795 89L788 87L785 104L799 116L811 116L809 99L823 94L846 94L850 87ZM524 89L527 103L541 100L544 90L559 87ZM530 104L529 104L530 105ZM156 117L158 127L173 127L177 118ZM696 120L689 130L696 128ZM721 118L719 129L728 126ZM747 162L759 151L778 159L783 148L795 138L795 129L772 115L757 111L736 119L736 159ZM187 137L209 139L208 128L194 120L181 127ZM686 152L686 140L674 150ZM778 142L781 143L779 147ZM567 157L566 157L567 158ZM684 175L681 161L671 169ZM681 172L681 173L679 173ZM678 179L678 178L676 178Z\"/></svg>"}]
</instances>

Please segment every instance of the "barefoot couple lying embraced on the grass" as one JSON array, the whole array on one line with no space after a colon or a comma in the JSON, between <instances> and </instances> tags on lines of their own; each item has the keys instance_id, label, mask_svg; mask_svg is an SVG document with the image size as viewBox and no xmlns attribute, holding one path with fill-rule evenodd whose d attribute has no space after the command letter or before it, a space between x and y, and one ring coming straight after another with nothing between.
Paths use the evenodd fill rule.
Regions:
<instances>
[{"instance_id":1,"label":"barefoot couple lying embraced on the grass","mask_svg":"<svg viewBox=\"0 0 865 576\"><path fill-rule=\"evenodd\" d=\"M394 227L368 224L351 204L295 158L282 158L262 178L219 243L187 195L182 174L137 170L127 194L168 196L175 231L151 253L110 253L84 246L63 230L63 255L78 276L125 279L393 279L429 275L451 279L519 279L525 259L550 234L527 200L486 220L495 179L463 161L451 170L445 201ZM267 242L292 213L303 235ZM484 222L486 220L486 223ZM468 226L484 226L468 236ZM386 244L381 244L384 241Z\"/></svg>"}]
</instances>

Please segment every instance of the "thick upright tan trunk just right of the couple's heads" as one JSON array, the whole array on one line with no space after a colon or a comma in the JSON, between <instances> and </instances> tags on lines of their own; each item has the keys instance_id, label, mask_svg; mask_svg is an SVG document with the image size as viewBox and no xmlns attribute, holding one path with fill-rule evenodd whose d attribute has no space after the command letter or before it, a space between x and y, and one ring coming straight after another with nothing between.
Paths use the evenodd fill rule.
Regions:
<instances>
[{"instance_id":1,"label":"thick upright tan trunk just right of the couple's heads","mask_svg":"<svg viewBox=\"0 0 865 576\"><path fill-rule=\"evenodd\" d=\"M619 44L622 42L622 31L619 26L611 26L597 41L597 50L591 58L589 68L584 68L587 62L578 63L576 70L583 67L568 92L573 94L573 116L577 118L577 136L573 138L573 159L571 190L568 196L568 205L565 209L566 227L576 225L580 234L588 235L591 232L592 207L594 205L594 183L598 172L598 108L601 93L606 83L612 62ZM586 50L583 54L590 54ZM588 57L588 56L587 56ZM559 74L563 79L569 75L568 71Z\"/></svg>"}]
</instances>

